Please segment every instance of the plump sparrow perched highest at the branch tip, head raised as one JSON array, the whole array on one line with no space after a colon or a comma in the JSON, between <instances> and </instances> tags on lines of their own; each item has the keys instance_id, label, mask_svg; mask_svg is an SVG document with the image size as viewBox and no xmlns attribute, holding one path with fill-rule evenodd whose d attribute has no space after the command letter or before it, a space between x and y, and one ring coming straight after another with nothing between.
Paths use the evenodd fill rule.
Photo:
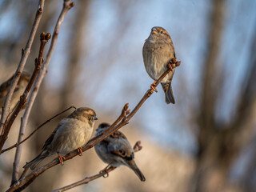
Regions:
<instances>
[{"instance_id":1,"label":"plump sparrow perched highest at the branch tip, head raised","mask_svg":"<svg viewBox=\"0 0 256 192\"><path fill-rule=\"evenodd\" d=\"M168 32L161 26L154 26L151 29L149 38L143 46L143 61L146 68L146 72L150 75L150 78L157 80L170 65L170 61L175 56L174 44L170 38ZM168 65L169 64L169 65ZM165 78L162 79L162 89L166 94L166 103L175 103L173 90L171 87L171 80L174 76L175 69L172 69ZM156 90L154 83L151 85L151 89Z\"/></svg>"}]
</instances>

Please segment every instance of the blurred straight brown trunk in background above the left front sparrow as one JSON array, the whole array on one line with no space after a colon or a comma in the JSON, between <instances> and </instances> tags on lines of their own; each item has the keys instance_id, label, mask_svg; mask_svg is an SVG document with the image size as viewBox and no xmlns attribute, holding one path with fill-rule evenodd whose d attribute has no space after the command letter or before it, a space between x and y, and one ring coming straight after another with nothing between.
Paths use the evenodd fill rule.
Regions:
<instances>
[{"instance_id":1,"label":"blurred straight brown trunk in background above the left front sparrow","mask_svg":"<svg viewBox=\"0 0 256 192\"><path fill-rule=\"evenodd\" d=\"M82 72L81 58L86 58L86 51L84 46L84 39L86 34L84 32L86 23L88 21L87 14L89 13L90 1L81 1L78 5L78 10L73 18L73 26L70 30L70 42L67 47L68 61L66 63L66 74L63 75L64 83L60 95L62 97L61 110L69 106L74 106L74 101L77 101L80 92L75 89L78 78Z\"/></svg>"}]
</instances>

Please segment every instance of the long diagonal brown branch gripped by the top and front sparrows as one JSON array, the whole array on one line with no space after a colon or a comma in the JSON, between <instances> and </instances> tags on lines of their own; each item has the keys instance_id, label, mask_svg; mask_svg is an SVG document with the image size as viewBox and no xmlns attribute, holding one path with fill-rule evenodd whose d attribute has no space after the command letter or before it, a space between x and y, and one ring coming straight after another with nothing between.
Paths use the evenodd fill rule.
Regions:
<instances>
[{"instance_id":1,"label":"long diagonal brown branch gripped by the top and front sparrows","mask_svg":"<svg viewBox=\"0 0 256 192\"><path fill-rule=\"evenodd\" d=\"M174 63L174 66L179 66L179 65L180 65L180 62ZM168 73L170 73L170 68L168 68L160 76L160 78L158 78L158 80L155 82L155 85L158 86L158 84L162 81L163 78L165 78L165 76ZM134 110L132 110L131 113L130 113L130 110L128 110L129 104L126 103L126 105L123 106L122 113L119 115L117 120L104 133L99 134L98 136L90 139L90 141L87 142L85 146L82 146L82 151L84 152L86 150L89 150L90 148L92 148L93 146L98 144L98 142L101 142L105 138L109 137L110 134L113 134L115 131L120 129L122 126L125 126L126 124L128 124L129 123L128 121L130 120L130 118L132 118L134 116L134 114L136 114L136 112L142 106L143 102L145 102L146 99L149 98L151 94L153 94L153 92L154 91L151 89L147 90L146 94L144 94L141 101L138 102L138 105L135 106ZM127 116L127 114L129 114L129 115ZM78 155L78 150L73 150L69 154L66 154L64 161L74 158L77 155ZM48 162L45 166L41 166L37 170L34 170L30 174L27 174L25 177L19 179L18 182L15 182L13 186L10 186L10 189L7 191L14 191L14 190L20 189L22 186L25 186L26 183L31 183L31 180L34 180L35 178L38 177L38 175L42 174L43 172L50 169L51 167L58 165L58 163L59 163L58 158L55 158L53 161ZM26 185L26 186L28 186L28 185Z\"/></svg>"}]
</instances>

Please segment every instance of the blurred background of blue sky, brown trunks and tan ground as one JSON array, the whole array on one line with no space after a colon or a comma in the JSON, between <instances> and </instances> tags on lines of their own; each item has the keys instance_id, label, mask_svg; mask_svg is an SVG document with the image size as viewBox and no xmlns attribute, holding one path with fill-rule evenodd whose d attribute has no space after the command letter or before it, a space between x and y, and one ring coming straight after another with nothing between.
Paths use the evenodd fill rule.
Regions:
<instances>
[{"instance_id":1,"label":"blurred background of blue sky, brown trunks and tan ground","mask_svg":"<svg viewBox=\"0 0 256 192\"><path fill-rule=\"evenodd\" d=\"M256 2L74 2L62 24L26 134L69 106L93 108L98 116L95 127L114 122L126 102L133 109L153 82L142 61L142 46L153 26L170 33L182 65L173 79L177 103L166 105L158 88L121 129L132 145L142 142L135 160L146 182L122 166L109 178L70 191L256 191ZM1 83L18 66L37 6L34 0L0 2ZM61 9L61 0L46 1L26 62L30 74L39 34L53 32ZM25 143L20 171L69 113ZM4 148L17 142L20 117ZM10 186L14 151L0 157L1 191ZM98 174L105 166L91 149L47 170L25 191L54 190Z\"/></svg>"}]
</instances>

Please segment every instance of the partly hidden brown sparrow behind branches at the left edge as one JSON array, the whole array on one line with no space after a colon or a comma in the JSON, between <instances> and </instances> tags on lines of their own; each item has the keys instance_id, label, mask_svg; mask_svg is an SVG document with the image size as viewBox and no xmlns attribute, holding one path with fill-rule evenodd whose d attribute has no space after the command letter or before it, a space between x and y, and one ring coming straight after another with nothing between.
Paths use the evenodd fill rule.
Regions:
<instances>
[{"instance_id":1,"label":"partly hidden brown sparrow behind branches at the left edge","mask_svg":"<svg viewBox=\"0 0 256 192\"><path fill-rule=\"evenodd\" d=\"M6 82L3 82L0 86L0 114L2 114L2 106L4 105L4 102L6 100L6 95L8 93L10 83L13 80L14 75L9 78ZM10 110L13 110L16 104L19 101L20 96L23 94L24 90L26 89L26 86L28 82L30 81L30 74L26 74L25 72L22 73L21 77L18 80L18 84L15 87L13 98L10 102Z\"/></svg>"}]
</instances>

